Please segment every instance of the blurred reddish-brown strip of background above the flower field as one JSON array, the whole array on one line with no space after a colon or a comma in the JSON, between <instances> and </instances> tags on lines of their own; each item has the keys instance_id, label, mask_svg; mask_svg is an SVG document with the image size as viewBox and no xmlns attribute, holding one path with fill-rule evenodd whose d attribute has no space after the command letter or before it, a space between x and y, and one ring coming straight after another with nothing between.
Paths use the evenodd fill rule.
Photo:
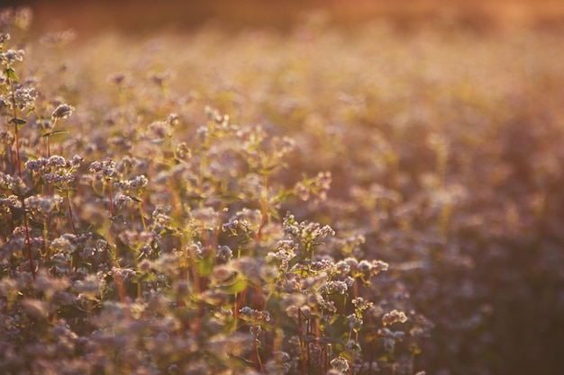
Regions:
<instances>
[{"instance_id":1,"label":"blurred reddish-brown strip of background above the flower field","mask_svg":"<svg viewBox=\"0 0 564 375\"><path fill-rule=\"evenodd\" d=\"M403 27L421 23L491 29L554 27L564 20L561 0L54 0L5 1L30 5L36 31L72 27L85 35L107 28L129 32L184 29L205 22L225 27L285 29L305 11L323 10L332 22L352 25L386 18Z\"/></svg>"}]
</instances>

